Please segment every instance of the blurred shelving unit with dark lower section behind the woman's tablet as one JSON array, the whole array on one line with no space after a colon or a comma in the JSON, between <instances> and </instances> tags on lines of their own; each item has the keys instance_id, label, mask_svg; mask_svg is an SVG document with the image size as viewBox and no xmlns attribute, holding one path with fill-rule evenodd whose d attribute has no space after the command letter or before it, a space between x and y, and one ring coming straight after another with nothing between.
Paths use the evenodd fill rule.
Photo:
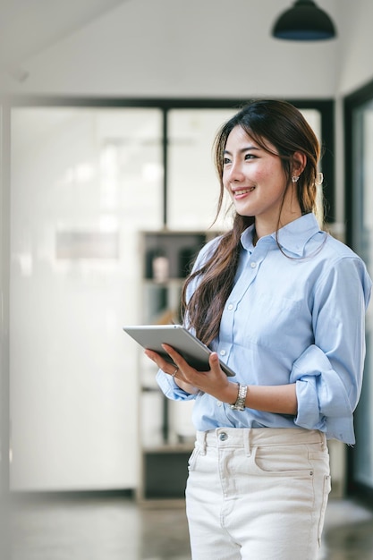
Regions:
<instances>
[{"instance_id":1,"label":"blurred shelving unit with dark lower section behind the woman's tablet","mask_svg":"<svg viewBox=\"0 0 373 560\"><path fill-rule=\"evenodd\" d=\"M202 232L141 233L143 324L180 323L182 284L200 248ZM138 498L182 499L188 458L194 444L192 402L165 398L156 382L157 368L143 352L140 371L140 468Z\"/></svg>"}]
</instances>

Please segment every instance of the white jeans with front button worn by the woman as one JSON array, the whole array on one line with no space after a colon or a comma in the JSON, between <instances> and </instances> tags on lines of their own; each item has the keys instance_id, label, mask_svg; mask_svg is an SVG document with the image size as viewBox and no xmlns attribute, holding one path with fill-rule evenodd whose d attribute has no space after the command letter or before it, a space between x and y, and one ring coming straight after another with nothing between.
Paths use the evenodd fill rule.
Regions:
<instances>
[{"instance_id":1,"label":"white jeans with front button worn by the woman","mask_svg":"<svg viewBox=\"0 0 373 560\"><path fill-rule=\"evenodd\" d=\"M317 430L198 432L186 488L192 558L315 560L329 492Z\"/></svg>"}]
</instances>

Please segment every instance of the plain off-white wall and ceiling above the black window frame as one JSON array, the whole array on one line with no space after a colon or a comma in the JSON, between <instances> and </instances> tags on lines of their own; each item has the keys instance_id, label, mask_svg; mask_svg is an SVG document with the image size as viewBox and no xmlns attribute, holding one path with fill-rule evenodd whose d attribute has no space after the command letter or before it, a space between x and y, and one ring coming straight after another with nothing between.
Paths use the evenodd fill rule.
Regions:
<instances>
[{"instance_id":1,"label":"plain off-white wall and ceiling above the black window frame","mask_svg":"<svg viewBox=\"0 0 373 560\"><path fill-rule=\"evenodd\" d=\"M292 2L0 0L0 93L328 97L335 91L343 37L338 8L351 0L318 0L338 16L339 36L312 46L270 37L276 14ZM354 15L367 3L373 0L354 1ZM358 17L354 21L361 27ZM348 23L352 38L360 34ZM353 56L364 67L366 58Z\"/></svg>"}]
</instances>

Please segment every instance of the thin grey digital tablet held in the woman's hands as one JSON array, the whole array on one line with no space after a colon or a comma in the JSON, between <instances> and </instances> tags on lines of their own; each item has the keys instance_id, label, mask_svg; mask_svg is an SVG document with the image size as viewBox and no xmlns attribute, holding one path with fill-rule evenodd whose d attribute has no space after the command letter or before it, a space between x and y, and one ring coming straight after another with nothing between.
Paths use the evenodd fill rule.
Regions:
<instances>
[{"instance_id":1,"label":"thin grey digital tablet held in the woman's hands","mask_svg":"<svg viewBox=\"0 0 373 560\"><path fill-rule=\"evenodd\" d=\"M199 371L208 371L208 356L211 350L182 325L140 325L126 326L123 330L130 335L143 348L154 350L166 361L174 363L162 348L162 344L169 344L192 368ZM220 367L229 377L235 376L232 369L220 361Z\"/></svg>"}]
</instances>

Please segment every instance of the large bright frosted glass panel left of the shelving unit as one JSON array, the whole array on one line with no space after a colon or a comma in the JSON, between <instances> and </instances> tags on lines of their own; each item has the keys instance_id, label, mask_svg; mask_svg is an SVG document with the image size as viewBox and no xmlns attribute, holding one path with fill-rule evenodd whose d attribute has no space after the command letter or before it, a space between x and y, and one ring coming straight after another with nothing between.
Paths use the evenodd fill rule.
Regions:
<instances>
[{"instance_id":1,"label":"large bright frosted glass panel left of the shelving unit","mask_svg":"<svg viewBox=\"0 0 373 560\"><path fill-rule=\"evenodd\" d=\"M122 327L139 322L138 233L163 222L162 114L18 107L12 123L13 488L134 488Z\"/></svg>"}]
</instances>

